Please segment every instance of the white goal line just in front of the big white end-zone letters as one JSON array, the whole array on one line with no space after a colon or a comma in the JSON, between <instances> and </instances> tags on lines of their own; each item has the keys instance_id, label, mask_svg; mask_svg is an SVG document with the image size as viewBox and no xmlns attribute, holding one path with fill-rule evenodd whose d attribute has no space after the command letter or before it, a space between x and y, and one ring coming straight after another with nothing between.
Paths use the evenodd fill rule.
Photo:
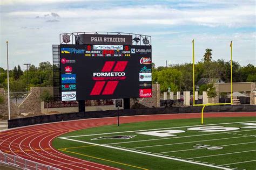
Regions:
<instances>
[{"instance_id":1,"label":"white goal line just in front of the big white end-zone letters","mask_svg":"<svg viewBox=\"0 0 256 170\"><path fill-rule=\"evenodd\" d=\"M240 130L240 131L235 131L235 132L246 132L246 131L255 131L256 129L251 129L251 130ZM196 135L190 135L190 136L179 136L179 137L171 137L171 138L159 138L159 139L147 139L147 140L134 140L134 141L123 141L119 143L110 143L110 144L126 144L126 143L136 143L136 142L141 142L141 141L152 141L152 140L165 140L165 139L176 139L176 138L190 138L190 137L195 137L195 136L206 136L206 135L212 135L212 134L223 134L223 133L228 133L228 132L219 132L219 133L206 133L206 134L196 134ZM67 138L67 137L62 137L62 138ZM104 144L104 145L109 145L109 144Z\"/></svg>"}]
</instances>

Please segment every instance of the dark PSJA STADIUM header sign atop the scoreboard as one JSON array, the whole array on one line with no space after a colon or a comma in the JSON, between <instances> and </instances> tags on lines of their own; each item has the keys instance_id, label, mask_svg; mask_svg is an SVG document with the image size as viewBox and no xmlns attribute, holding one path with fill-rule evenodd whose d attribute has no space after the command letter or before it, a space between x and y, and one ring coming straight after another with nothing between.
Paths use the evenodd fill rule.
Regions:
<instances>
[{"instance_id":1,"label":"dark PSJA STADIUM header sign atop the scoreboard","mask_svg":"<svg viewBox=\"0 0 256 170\"><path fill-rule=\"evenodd\" d=\"M98 45L132 45L132 36L129 35L99 35L84 34L83 44Z\"/></svg>"}]
</instances>

